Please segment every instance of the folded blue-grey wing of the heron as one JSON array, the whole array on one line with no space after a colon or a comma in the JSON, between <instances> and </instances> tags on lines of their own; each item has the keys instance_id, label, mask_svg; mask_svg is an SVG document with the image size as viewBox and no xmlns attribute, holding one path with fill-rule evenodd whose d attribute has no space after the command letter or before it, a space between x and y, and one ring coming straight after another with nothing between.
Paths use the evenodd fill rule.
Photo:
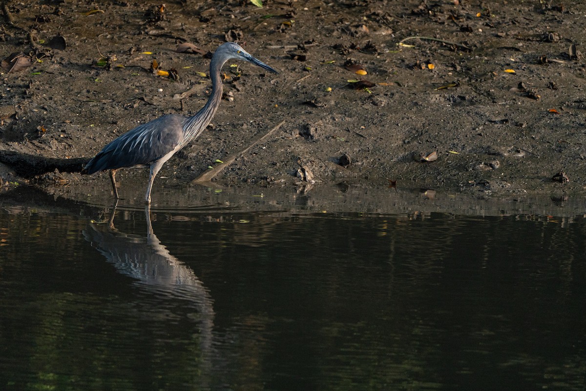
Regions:
<instances>
[{"instance_id":1,"label":"folded blue-grey wing of the heron","mask_svg":"<svg viewBox=\"0 0 586 391\"><path fill-rule=\"evenodd\" d=\"M183 140L183 117L163 115L121 135L86 165L88 174L107 169L148 165L173 151Z\"/></svg>"}]
</instances>

